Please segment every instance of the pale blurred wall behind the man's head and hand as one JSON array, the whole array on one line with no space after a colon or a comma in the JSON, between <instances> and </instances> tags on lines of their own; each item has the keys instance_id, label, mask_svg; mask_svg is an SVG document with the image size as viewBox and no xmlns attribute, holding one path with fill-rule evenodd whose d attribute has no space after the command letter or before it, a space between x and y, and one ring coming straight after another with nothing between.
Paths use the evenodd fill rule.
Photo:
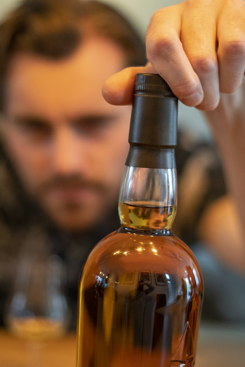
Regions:
<instances>
[{"instance_id":1,"label":"pale blurred wall behind the man's head and hand","mask_svg":"<svg viewBox=\"0 0 245 367\"><path fill-rule=\"evenodd\" d=\"M154 12L162 7L180 3L180 0L101 0L118 8L133 22L144 36L147 25ZM0 0L0 19L10 11L20 0ZM195 108L188 108L179 103L179 127L186 128L194 134L209 139L209 129L202 114Z\"/></svg>"}]
</instances>

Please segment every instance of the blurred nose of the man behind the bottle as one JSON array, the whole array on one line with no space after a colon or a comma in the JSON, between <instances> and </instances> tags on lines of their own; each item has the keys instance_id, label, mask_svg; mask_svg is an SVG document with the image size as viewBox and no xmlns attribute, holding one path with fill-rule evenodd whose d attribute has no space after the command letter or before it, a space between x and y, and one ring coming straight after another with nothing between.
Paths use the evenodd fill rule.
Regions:
<instances>
[{"instance_id":1,"label":"blurred nose of the man behind the bottle","mask_svg":"<svg viewBox=\"0 0 245 367\"><path fill-rule=\"evenodd\" d=\"M52 161L56 174L69 175L80 173L82 167L82 157L79 154L81 143L68 127L60 128L55 132Z\"/></svg>"}]
</instances>

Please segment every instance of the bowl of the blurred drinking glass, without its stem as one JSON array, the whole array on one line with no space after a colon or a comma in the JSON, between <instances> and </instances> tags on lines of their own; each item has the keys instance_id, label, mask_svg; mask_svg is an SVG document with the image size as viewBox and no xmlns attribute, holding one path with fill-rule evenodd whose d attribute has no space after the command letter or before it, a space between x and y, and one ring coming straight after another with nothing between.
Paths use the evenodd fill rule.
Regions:
<instances>
[{"instance_id":1,"label":"bowl of the blurred drinking glass, without its stem","mask_svg":"<svg viewBox=\"0 0 245 367\"><path fill-rule=\"evenodd\" d=\"M9 330L18 337L44 341L61 337L68 327L62 291L64 268L57 255L30 254L21 259L7 312Z\"/></svg>"}]
</instances>

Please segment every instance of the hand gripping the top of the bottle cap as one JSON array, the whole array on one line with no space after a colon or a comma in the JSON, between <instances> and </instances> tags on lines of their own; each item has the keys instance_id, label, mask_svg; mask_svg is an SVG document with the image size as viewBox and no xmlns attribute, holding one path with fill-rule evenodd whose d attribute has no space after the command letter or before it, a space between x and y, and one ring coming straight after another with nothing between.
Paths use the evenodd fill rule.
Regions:
<instances>
[{"instance_id":1,"label":"hand gripping the top of the bottle cap","mask_svg":"<svg viewBox=\"0 0 245 367\"><path fill-rule=\"evenodd\" d=\"M242 82L244 19L244 0L186 0L158 10L146 34L150 63L109 78L102 88L104 98L129 104L135 74L156 72L185 105L215 109L220 93L232 93Z\"/></svg>"}]
</instances>

